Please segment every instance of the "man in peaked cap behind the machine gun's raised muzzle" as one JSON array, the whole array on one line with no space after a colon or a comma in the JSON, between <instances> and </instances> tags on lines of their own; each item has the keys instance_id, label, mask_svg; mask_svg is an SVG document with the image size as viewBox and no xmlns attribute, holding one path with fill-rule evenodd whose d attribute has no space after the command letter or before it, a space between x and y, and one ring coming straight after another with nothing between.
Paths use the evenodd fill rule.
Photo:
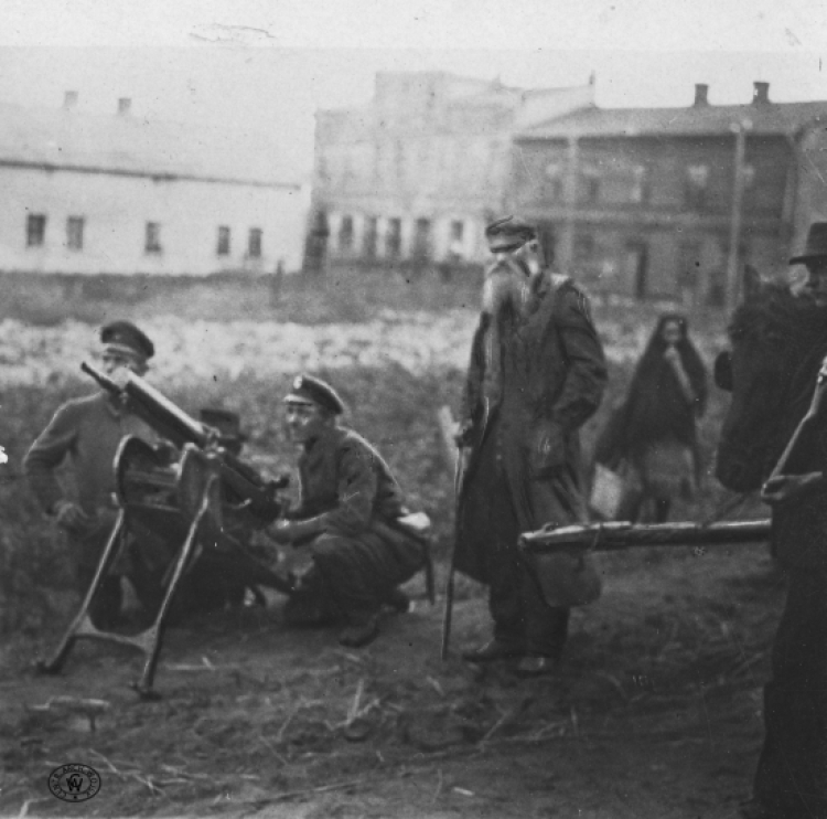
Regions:
<instances>
[{"instance_id":1,"label":"man in peaked cap behind the machine gun's raised muzzle","mask_svg":"<svg viewBox=\"0 0 827 819\"><path fill-rule=\"evenodd\" d=\"M150 339L129 321L114 321L100 329L101 369L110 377L122 369L142 375L153 354ZM61 406L23 460L32 491L44 512L65 533L80 595L92 583L117 517L112 464L118 445L127 435L158 443L147 424L100 391ZM56 477L66 459L73 467L71 487L62 486ZM93 604L93 623L101 628L115 625L120 604L120 578L111 575L104 581Z\"/></svg>"}]
</instances>

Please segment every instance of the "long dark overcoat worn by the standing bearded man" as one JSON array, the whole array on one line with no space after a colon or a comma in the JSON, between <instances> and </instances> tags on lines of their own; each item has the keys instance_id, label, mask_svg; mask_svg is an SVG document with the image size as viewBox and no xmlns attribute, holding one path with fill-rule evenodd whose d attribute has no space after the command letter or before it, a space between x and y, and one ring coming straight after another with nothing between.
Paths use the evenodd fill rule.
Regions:
<instances>
[{"instance_id":1,"label":"long dark overcoat worn by the standing bearded man","mask_svg":"<svg viewBox=\"0 0 827 819\"><path fill-rule=\"evenodd\" d=\"M495 320L501 321L498 333L492 333ZM485 390L492 337L501 340L496 405ZM516 519L518 532L586 520L579 429L600 405L605 382L605 359L588 298L570 278L544 272L525 316L482 315L463 402L463 417L473 423L474 436L458 508L459 571L488 583L501 568L495 555L502 551L479 524L484 515L477 511L491 504L509 500L508 515ZM494 458L481 457L492 445ZM509 499L495 497L502 488L495 469L505 476Z\"/></svg>"}]
</instances>

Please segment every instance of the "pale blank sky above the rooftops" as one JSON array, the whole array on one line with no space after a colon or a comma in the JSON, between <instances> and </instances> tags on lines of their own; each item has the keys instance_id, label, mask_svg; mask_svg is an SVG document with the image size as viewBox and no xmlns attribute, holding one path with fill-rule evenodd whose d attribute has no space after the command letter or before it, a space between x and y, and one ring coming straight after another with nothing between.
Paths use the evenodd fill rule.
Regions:
<instances>
[{"instance_id":1,"label":"pale blank sky above the rooftops","mask_svg":"<svg viewBox=\"0 0 827 819\"><path fill-rule=\"evenodd\" d=\"M302 171L313 114L377 71L586 83L600 106L827 99L823 0L0 0L0 102L266 131Z\"/></svg>"}]
</instances>

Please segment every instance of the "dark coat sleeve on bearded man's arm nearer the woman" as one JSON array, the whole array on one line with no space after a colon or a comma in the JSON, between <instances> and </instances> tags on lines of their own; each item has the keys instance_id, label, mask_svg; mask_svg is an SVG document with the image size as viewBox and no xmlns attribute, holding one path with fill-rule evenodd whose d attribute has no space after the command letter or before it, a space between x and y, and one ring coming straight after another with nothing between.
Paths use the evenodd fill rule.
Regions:
<instances>
[{"instance_id":1,"label":"dark coat sleeve on bearded man's arm nearer the woman","mask_svg":"<svg viewBox=\"0 0 827 819\"><path fill-rule=\"evenodd\" d=\"M598 410L608 380L605 357L591 320L589 300L571 284L557 291L555 322L566 359L566 380L552 415L567 432L581 427Z\"/></svg>"}]
</instances>

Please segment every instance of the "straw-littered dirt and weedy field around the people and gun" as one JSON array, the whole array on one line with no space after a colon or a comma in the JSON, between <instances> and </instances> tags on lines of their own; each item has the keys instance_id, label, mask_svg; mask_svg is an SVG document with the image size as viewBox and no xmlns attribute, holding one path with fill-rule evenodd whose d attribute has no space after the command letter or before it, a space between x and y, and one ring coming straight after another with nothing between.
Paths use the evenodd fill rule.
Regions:
<instances>
[{"instance_id":1,"label":"straw-littered dirt and weedy field around the people and gun","mask_svg":"<svg viewBox=\"0 0 827 819\"><path fill-rule=\"evenodd\" d=\"M221 376L204 383L205 359L187 348L192 328L170 319L164 337L159 318L155 336L169 339L168 351L178 347L159 363L155 383L191 412L215 403L240 411L249 457L275 471L293 457L275 421L289 373L307 365L326 374L351 404L348 422L387 455L411 506L433 519L441 589L452 488L434 414L442 404L457 407L462 382L445 327L460 328L457 343L466 349L472 321L439 319L442 340L429 352L426 318L387 320L399 330L356 328L353 343L339 334L334 358L322 329L319 343L301 336L300 362L282 345L268 368L256 349L260 375L233 371L228 355L216 364ZM645 338L637 323L599 322L612 383L584 430L587 449ZM563 663L539 680L519 680L507 663L460 660L462 648L490 635L485 591L463 578L442 662L443 600L430 606L421 577L407 587L412 609L388 613L366 649L341 648L335 629L287 628L282 599L268 593L266 607L170 628L158 702L141 702L129 688L141 660L117 646L82 641L62 676L35 676L32 660L54 648L77 600L19 462L56 405L88 385L64 377L83 350L75 358L77 342L61 332L76 340L77 325L23 330L0 325L0 354L15 382L0 396L9 455L0 481L1 816L735 817L760 748L761 685L784 594L765 544L598 555L603 595L573 613ZM211 351L235 349L249 360L244 344L266 352L278 331L204 332ZM720 333L701 339L707 359L719 343ZM189 361L198 377L187 380ZM700 430L708 456L724 408L716 393ZM704 520L726 497L710 480L675 517ZM756 506L741 515L765 513ZM49 774L66 763L100 774L94 799L71 805L51 796Z\"/></svg>"}]
</instances>

